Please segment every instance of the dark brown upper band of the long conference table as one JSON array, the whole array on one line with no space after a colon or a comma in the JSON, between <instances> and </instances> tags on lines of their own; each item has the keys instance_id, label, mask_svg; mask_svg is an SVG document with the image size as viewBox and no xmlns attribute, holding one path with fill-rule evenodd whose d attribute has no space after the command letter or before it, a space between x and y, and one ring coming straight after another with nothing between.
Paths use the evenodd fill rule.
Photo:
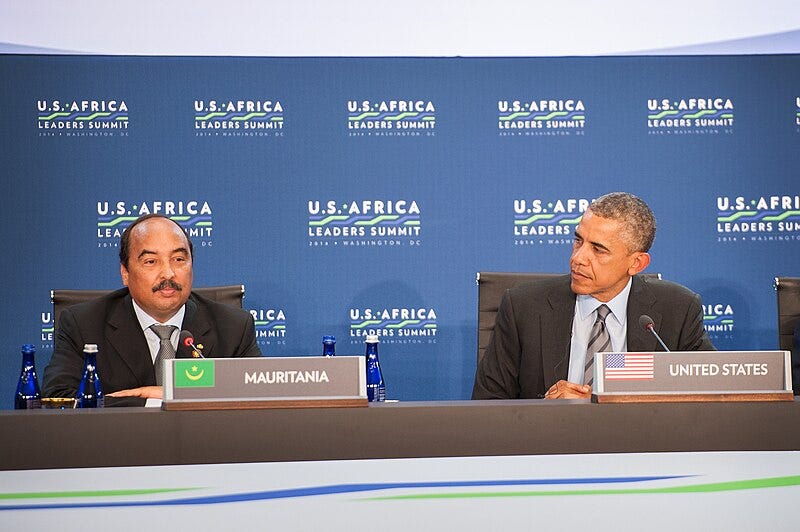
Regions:
<instances>
[{"instance_id":1,"label":"dark brown upper band of the long conference table","mask_svg":"<svg viewBox=\"0 0 800 532\"><path fill-rule=\"evenodd\" d=\"M0 411L0 469L800 450L800 401ZM87 451L87 447L90 451ZM22 450L24 448L24 451Z\"/></svg>"}]
</instances>

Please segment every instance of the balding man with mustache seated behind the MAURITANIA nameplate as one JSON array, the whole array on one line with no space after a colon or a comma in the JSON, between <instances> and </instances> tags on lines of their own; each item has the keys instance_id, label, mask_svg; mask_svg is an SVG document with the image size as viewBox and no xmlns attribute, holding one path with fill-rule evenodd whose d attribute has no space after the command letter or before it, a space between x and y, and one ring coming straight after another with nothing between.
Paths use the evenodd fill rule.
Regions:
<instances>
[{"instance_id":1,"label":"balding man with mustache seated behind the MAURITANIA nameplate","mask_svg":"<svg viewBox=\"0 0 800 532\"><path fill-rule=\"evenodd\" d=\"M186 231L160 214L139 217L120 240L122 288L63 310L55 348L45 368L46 397L74 397L83 373L83 345L97 344L97 371L106 405L143 405L160 399L156 367L166 331L177 350L191 331L206 357L261 356L253 318L242 309L192 293L194 258Z\"/></svg>"}]
</instances>

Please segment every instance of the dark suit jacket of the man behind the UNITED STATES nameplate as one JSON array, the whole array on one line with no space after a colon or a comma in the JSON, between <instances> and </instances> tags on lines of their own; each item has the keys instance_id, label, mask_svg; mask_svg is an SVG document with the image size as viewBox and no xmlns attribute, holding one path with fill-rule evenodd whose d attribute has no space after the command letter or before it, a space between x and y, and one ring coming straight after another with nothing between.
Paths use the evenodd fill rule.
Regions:
<instances>
[{"instance_id":1,"label":"dark suit jacket of the man behind the UNITED STATES nameplate","mask_svg":"<svg viewBox=\"0 0 800 532\"><path fill-rule=\"evenodd\" d=\"M536 399L569 372L576 296L570 276L526 283L503 295L492 338L475 373L473 399ZM663 351L639 316L653 318L671 350L714 349L700 297L681 285L633 277L628 297L628 351Z\"/></svg>"}]
</instances>

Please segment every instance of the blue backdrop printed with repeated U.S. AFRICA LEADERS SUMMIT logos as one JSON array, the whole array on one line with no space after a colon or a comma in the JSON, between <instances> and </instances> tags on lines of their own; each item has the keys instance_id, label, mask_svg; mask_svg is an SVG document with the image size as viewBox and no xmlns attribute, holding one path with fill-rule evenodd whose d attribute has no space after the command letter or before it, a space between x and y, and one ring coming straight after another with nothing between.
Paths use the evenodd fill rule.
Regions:
<instances>
[{"instance_id":1,"label":"blue backdrop printed with repeated U.S. AFRICA LEADERS SUMMIT logos","mask_svg":"<svg viewBox=\"0 0 800 532\"><path fill-rule=\"evenodd\" d=\"M246 285L265 355L376 331L401 400L469 397L476 272L566 272L605 192L651 205L648 271L720 349L776 348L800 275L799 56L0 56L0 146L5 408L50 289L121 286L144 212L192 233L196 285Z\"/></svg>"}]
</instances>

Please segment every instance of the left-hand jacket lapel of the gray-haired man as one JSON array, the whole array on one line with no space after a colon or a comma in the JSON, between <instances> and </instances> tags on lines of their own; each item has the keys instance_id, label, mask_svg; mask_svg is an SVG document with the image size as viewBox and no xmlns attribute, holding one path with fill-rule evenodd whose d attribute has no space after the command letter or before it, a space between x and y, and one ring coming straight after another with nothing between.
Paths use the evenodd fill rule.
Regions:
<instances>
[{"instance_id":1,"label":"left-hand jacket lapel of the gray-haired man","mask_svg":"<svg viewBox=\"0 0 800 532\"><path fill-rule=\"evenodd\" d=\"M547 296L549 309L541 314L542 370L545 382L566 380L569 373L569 352L572 319L575 315L575 294L569 277Z\"/></svg>"}]
</instances>

